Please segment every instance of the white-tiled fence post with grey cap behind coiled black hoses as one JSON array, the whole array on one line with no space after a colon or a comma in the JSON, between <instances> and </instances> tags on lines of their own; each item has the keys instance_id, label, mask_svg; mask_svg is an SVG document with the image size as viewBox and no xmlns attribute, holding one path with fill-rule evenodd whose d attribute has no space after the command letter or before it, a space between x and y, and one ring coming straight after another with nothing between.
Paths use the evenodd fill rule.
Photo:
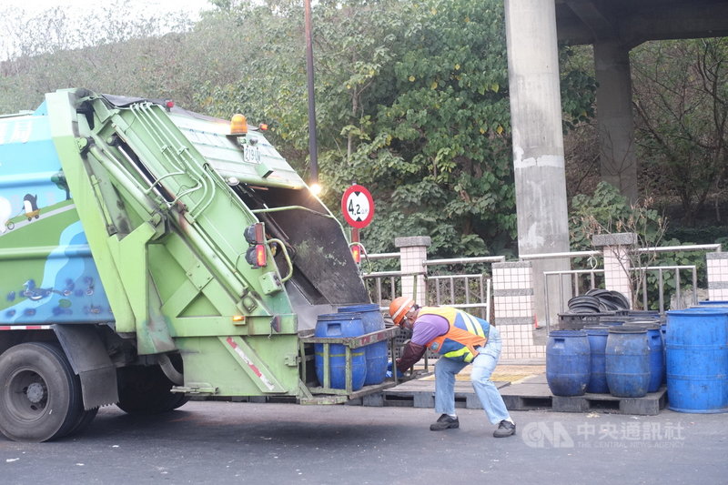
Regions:
<instances>
[{"instance_id":1,"label":"white-tiled fence post with grey cap behind coiled black hoses","mask_svg":"<svg viewBox=\"0 0 728 485\"><path fill-rule=\"evenodd\" d=\"M622 293L632 308L630 249L637 244L637 235L632 232L597 234L592 237L591 243L602 248L604 288Z\"/></svg>"}]
</instances>

